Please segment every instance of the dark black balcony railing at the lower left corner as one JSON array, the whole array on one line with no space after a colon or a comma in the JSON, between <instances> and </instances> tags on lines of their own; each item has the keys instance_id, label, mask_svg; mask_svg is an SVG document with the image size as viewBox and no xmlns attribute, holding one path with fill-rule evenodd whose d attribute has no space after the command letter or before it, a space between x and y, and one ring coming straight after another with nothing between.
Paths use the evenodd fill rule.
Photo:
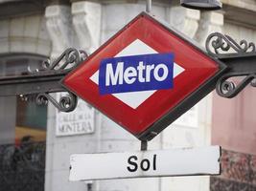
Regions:
<instances>
[{"instance_id":1,"label":"dark black balcony railing at the lower left corner","mask_svg":"<svg viewBox=\"0 0 256 191\"><path fill-rule=\"evenodd\" d=\"M45 142L0 145L0 190L43 191Z\"/></svg>"}]
</instances>

